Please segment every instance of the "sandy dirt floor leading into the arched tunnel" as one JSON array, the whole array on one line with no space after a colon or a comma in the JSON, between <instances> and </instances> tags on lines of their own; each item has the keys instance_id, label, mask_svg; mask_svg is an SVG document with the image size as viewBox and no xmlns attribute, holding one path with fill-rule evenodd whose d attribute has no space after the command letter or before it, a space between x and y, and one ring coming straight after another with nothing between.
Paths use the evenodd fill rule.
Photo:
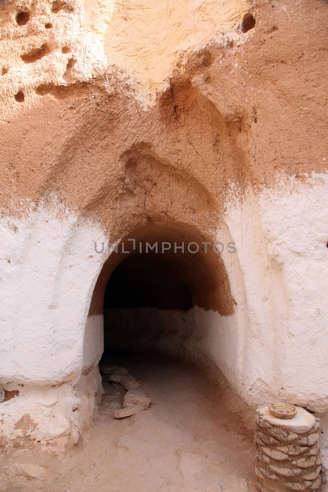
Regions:
<instances>
[{"instance_id":1,"label":"sandy dirt floor leading into the arched tunnel","mask_svg":"<svg viewBox=\"0 0 328 492\"><path fill-rule=\"evenodd\" d=\"M115 420L125 391L104 376L98 415L74 449L2 455L1 492L256 491L252 435L200 369L166 359L122 363L150 407Z\"/></svg>"}]
</instances>

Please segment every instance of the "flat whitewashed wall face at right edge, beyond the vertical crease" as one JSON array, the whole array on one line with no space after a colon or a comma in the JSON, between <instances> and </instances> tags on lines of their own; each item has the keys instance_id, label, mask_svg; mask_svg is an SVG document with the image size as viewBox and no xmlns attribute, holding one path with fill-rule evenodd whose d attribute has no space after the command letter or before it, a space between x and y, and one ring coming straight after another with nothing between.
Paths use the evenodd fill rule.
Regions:
<instances>
[{"instance_id":1,"label":"flat whitewashed wall face at right edge, beyond the vertical crease","mask_svg":"<svg viewBox=\"0 0 328 492\"><path fill-rule=\"evenodd\" d=\"M269 261L281 279L285 322L276 325L279 384L291 399L328 408L328 175L263 191L259 209ZM271 205L271 207L270 207ZM269 208L272 209L270 212Z\"/></svg>"}]
</instances>

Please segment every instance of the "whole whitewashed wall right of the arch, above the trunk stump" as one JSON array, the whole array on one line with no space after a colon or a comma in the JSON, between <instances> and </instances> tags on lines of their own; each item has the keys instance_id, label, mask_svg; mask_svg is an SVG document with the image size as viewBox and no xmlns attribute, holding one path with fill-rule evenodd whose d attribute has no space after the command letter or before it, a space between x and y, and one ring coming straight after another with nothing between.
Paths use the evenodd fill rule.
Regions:
<instances>
[{"instance_id":1,"label":"whole whitewashed wall right of the arch, above the trunk stump","mask_svg":"<svg viewBox=\"0 0 328 492\"><path fill-rule=\"evenodd\" d=\"M327 191L320 175L249 191L242 202L227 197L242 271L240 282L235 259L223 257L244 333L239 393L253 405L277 398L328 407Z\"/></svg>"}]
</instances>

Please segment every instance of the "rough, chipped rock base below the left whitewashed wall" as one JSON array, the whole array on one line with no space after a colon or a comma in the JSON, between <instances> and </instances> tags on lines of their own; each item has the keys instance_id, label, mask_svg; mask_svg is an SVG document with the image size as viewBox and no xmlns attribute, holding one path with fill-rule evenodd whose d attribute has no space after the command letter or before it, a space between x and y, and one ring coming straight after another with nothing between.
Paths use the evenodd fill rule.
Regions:
<instances>
[{"instance_id":1,"label":"rough, chipped rock base below the left whitewashed wall","mask_svg":"<svg viewBox=\"0 0 328 492\"><path fill-rule=\"evenodd\" d=\"M19 388L19 390L12 388ZM76 384L54 386L4 384L1 401L1 447L34 445L63 452L76 444L89 427L103 388L98 368Z\"/></svg>"}]
</instances>

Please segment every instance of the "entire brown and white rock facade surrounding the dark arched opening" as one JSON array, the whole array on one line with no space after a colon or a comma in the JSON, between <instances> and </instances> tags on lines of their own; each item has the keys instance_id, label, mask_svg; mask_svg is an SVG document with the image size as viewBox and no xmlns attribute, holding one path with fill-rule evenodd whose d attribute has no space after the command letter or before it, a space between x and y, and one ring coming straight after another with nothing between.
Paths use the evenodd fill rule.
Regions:
<instances>
[{"instance_id":1,"label":"entire brown and white rock facade surrounding the dark arched opening","mask_svg":"<svg viewBox=\"0 0 328 492\"><path fill-rule=\"evenodd\" d=\"M190 350L254 408L327 415L327 3L4 1L0 19L2 443L62 446L31 395L88 377L89 422L119 260L94 243L154 230L236 246L206 257Z\"/></svg>"}]
</instances>

